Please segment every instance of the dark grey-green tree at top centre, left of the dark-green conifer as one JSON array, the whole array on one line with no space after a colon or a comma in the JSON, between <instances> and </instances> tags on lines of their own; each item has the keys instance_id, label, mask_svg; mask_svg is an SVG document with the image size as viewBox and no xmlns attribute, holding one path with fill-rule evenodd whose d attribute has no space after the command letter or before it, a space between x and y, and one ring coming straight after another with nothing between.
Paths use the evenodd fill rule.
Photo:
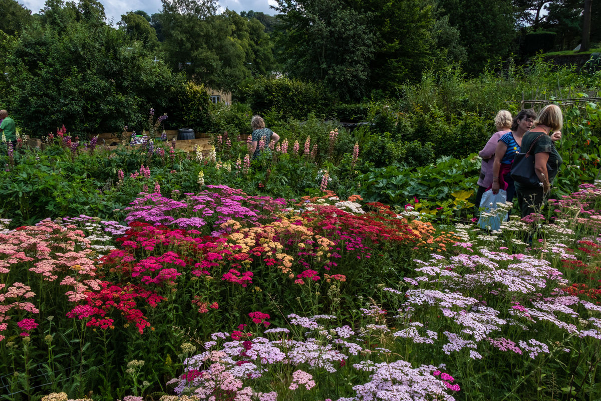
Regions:
<instances>
[{"instance_id":1,"label":"dark grey-green tree at top centre, left of the dark-green conifer","mask_svg":"<svg viewBox=\"0 0 601 401\"><path fill-rule=\"evenodd\" d=\"M284 70L293 78L324 82L343 99L361 99L371 78L375 36L371 14L343 0L278 0Z\"/></svg>"}]
</instances>

